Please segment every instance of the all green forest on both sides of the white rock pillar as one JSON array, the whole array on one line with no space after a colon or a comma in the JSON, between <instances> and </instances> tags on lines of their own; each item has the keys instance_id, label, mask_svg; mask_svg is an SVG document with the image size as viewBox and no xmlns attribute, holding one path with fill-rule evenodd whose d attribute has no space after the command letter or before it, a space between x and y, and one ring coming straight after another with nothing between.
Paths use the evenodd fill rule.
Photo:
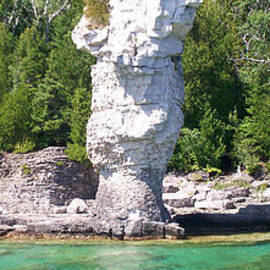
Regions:
<instances>
[{"instance_id":1,"label":"all green forest on both sides of the white rock pillar","mask_svg":"<svg viewBox=\"0 0 270 270\"><path fill-rule=\"evenodd\" d=\"M71 31L85 4L106 24L107 3L1 0L0 150L67 146L71 159L86 159L95 59L76 50ZM185 127L169 169L270 167L269 1L204 0L182 61Z\"/></svg>"}]
</instances>

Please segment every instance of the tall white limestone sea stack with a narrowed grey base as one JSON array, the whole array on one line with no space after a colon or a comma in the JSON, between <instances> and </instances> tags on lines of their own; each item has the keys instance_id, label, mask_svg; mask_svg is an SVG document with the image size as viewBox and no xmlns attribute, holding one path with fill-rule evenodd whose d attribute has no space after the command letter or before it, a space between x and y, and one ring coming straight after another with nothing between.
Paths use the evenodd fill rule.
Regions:
<instances>
[{"instance_id":1,"label":"tall white limestone sea stack with a narrowed grey base","mask_svg":"<svg viewBox=\"0 0 270 270\"><path fill-rule=\"evenodd\" d=\"M170 219L162 180L183 124L181 54L201 2L111 0L108 26L91 29L83 17L73 31L78 49L97 57L87 152L103 230Z\"/></svg>"}]
</instances>

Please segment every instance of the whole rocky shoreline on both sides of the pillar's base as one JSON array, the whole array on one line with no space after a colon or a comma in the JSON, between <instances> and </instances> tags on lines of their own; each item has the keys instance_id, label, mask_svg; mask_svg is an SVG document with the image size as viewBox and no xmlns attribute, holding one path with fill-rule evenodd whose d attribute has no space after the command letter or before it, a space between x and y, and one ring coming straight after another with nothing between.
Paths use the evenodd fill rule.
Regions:
<instances>
[{"instance_id":1,"label":"whole rocky shoreline on both sides of the pillar's base","mask_svg":"<svg viewBox=\"0 0 270 270\"><path fill-rule=\"evenodd\" d=\"M26 169L27 168L27 169ZM122 217L103 224L96 212L97 176L69 161L65 148L0 158L0 236L82 235L121 240L270 231L270 177L244 172L167 174L163 201L170 223Z\"/></svg>"}]
</instances>

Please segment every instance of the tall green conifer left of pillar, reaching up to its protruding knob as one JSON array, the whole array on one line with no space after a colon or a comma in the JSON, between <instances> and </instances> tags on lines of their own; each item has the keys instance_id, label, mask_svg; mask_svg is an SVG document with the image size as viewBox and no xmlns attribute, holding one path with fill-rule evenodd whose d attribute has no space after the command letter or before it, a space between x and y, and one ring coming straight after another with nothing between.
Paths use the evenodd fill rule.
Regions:
<instances>
[{"instance_id":1,"label":"tall green conifer left of pillar, reaching up to its protruding knob","mask_svg":"<svg viewBox=\"0 0 270 270\"><path fill-rule=\"evenodd\" d=\"M39 148L66 145L74 90L85 87L90 91L93 57L77 51L70 34L52 41L48 70L33 98L33 133L39 138Z\"/></svg>"}]
</instances>

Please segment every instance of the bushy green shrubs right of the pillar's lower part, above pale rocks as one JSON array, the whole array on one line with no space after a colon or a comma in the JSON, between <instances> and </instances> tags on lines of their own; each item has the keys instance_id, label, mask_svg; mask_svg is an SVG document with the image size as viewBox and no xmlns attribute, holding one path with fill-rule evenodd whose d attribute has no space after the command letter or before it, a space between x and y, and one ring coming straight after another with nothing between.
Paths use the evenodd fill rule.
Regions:
<instances>
[{"instance_id":1,"label":"bushy green shrubs right of the pillar's lower part, above pale rocks","mask_svg":"<svg viewBox=\"0 0 270 270\"><path fill-rule=\"evenodd\" d=\"M221 158L225 153L225 126L208 109L200 121L200 129L183 128L169 163L169 170L205 170L220 173Z\"/></svg>"}]
</instances>

